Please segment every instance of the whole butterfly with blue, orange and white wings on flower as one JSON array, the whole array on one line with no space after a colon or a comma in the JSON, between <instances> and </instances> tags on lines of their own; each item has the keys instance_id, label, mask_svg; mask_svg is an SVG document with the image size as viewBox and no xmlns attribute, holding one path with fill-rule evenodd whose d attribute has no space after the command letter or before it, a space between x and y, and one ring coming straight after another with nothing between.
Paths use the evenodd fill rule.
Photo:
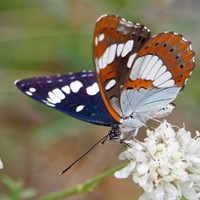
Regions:
<instances>
[{"instance_id":1,"label":"whole butterfly with blue, orange and white wings on flower","mask_svg":"<svg viewBox=\"0 0 200 200\"><path fill-rule=\"evenodd\" d=\"M172 112L195 67L191 42L175 32L150 30L119 16L97 19L95 72L17 80L31 98L77 119L110 126L110 139Z\"/></svg>"}]
</instances>

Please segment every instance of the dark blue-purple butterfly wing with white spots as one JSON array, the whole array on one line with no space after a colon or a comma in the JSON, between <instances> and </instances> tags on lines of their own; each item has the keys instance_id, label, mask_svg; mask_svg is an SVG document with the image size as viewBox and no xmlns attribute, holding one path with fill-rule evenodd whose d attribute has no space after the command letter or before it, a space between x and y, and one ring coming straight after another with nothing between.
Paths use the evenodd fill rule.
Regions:
<instances>
[{"instance_id":1,"label":"dark blue-purple butterfly wing with white spots","mask_svg":"<svg viewBox=\"0 0 200 200\"><path fill-rule=\"evenodd\" d=\"M82 121L105 126L114 123L94 72L23 79L16 81L16 86L36 101Z\"/></svg>"}]
</instances>

